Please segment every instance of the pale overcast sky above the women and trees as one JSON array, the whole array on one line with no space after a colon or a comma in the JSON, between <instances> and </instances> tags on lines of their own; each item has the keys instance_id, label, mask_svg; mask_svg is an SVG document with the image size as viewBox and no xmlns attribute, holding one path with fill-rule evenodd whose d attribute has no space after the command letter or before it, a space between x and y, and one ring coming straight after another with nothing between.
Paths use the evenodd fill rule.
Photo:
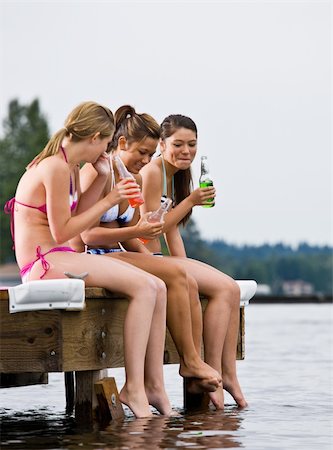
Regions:
<instances>
[{"instance_id":1,"label":"pale overcast sky above the women and trees","mask_svg":"<svg viewBox=\"0 0 333 450\"><path fill-rule=\"evenodd\" d=\"M52 133L86 100L188 115L204 239L332 245L331 20L328 0L0 0L0 121L14 98Z\"/></svg>"}]
</instances>

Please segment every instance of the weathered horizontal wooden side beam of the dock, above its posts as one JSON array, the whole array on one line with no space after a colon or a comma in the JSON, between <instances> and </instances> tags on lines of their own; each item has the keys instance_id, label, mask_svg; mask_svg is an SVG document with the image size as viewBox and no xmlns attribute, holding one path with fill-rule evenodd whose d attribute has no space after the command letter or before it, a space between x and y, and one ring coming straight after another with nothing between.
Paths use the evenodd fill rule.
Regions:
<instances>
[{"instance_id":1,"label":"weathered horizontal wooden side beam of the dock, above its posts","mask_svg":"<svg viewBox=\"0 0 333 450\"><path fill-rule=\"evenodd\" d=\"M0 372L71 372L123 367L123 323L128 307L102 288L86 288L83 311L10 314L8 292L0 291ZM202 308L207 301L202 299ZM240 308L237 359L245 354L245 313ZM165 364L179 363L167 332Z\"/></svg>"}]
</instances>

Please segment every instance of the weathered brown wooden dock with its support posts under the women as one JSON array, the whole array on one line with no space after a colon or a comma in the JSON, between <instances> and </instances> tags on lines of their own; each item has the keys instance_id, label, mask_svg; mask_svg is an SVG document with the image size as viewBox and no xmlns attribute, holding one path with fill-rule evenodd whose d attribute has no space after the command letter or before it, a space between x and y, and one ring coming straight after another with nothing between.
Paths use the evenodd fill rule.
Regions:
<instances>
[{"instance_id":1,"label":"weathered brown wooden dock with its support posts under the women","mask_svg":"<svg viewBox=\"0 0 333 450\"><path fill-rule=\"evenodd\" d=\"M9 313L9 294L0 291L0 387L48 382L49 372L64 372L66 411L79 423L109 414L122 415L114 380L103 369L123 367L123 323L128 301L102 288L86 288L82 311L62 309ZM204 309L207 301L201 300ZM244 306L240 308L237 359L245 354ZM165 364L179 357L167 331ZM198 406L202 396L184 388L184 406Z\"/></svg>"}]
</instances>

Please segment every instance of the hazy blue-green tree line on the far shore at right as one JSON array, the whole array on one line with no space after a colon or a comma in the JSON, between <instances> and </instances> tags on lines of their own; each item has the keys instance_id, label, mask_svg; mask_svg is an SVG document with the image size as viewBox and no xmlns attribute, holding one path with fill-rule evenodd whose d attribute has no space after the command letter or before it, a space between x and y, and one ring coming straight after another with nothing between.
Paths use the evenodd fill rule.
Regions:
<instances>
[{"instance_id":1,"label":"hazy blue-green tree line on the far shore at right","mask_svg":"<svg viewBox=\"0 0 333 450\"><path fill-rule=\"evenodd\" d=\"M211 264L235 279L254 279L282 294L284 281L311 283L316 293L332 295L333 248L303 242L292 248L284 243L233 245L204 240L194 221L182 231L187 256Z\"/></svg>"}]
</instances>

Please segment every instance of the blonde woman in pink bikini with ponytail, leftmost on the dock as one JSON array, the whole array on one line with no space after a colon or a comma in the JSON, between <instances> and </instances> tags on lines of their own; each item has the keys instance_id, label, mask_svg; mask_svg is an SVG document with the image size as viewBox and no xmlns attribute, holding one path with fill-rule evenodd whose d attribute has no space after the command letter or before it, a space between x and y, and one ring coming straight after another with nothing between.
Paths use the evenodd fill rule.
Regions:
<instances>
[{"instance_id":1,"label":"blonde woman in pink bikini with ponytail, leftmost on the dock","mask_svg":"<svg viewBox=\"0 0 333 450\"><path fill-rule=\"evenodd\" d=\"M125 262L77 253L69 244L109 208L138 194L135 182L122 180L112 192L95 201L109 170L104 153L114 129L108 108L94 102L77 106L64 128L29 164L6 212L12 214L12 235L14 239L15 232L16 259L23 281L64 278L64 272L88 272L87 286L104 287L128 297L124 324L126 382L120 400L135 416L147 417L151 415L151 399L162 405L164 413L171 413L162 373L165 285ZM81 195L82 162L92 163L98 176Z\"/></svg>"}]
</instances>

